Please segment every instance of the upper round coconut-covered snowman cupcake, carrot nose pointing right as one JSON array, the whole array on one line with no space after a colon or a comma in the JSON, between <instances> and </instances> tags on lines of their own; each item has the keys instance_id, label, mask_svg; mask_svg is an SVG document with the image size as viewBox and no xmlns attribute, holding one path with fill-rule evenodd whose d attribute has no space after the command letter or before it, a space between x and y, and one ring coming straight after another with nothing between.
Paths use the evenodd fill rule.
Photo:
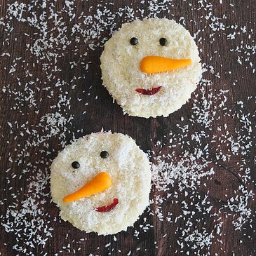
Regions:
<instances>
[{"instance_id":1,"label":"upper round coconut-covered snowman cupcake, carrot nose pointing right","mask_svg":"<svg viewBox=\"0 0 256 256\"><path fill-rule=\"evenodd\" d=\"M202 73L194 39L166 18L123 24L105 43L100 61L103 85L123 112L145 118L180 109Z\"/></svg>"}]
</instances>

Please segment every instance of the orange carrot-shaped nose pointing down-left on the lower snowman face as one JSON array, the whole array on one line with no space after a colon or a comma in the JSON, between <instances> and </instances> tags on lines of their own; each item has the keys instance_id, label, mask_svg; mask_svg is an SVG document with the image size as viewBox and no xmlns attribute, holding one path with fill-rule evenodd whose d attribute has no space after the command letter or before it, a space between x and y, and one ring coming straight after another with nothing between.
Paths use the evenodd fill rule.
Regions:
<instances>
[{"instance_id":1,"label":"orange carrot-shaped nose pointing down-left on the lower snowman face","mask_svg":"<svg viewBox=\"0 0 256 256\"><path fill-rule=\"evenodd\" d=\"M69 194L63 198L65 203L79 200L83 197L92 196L109 189L112 186L112 180L106 172L97 174L93 179L89 180L81 189Z\"/></svg>"}]
</instances>

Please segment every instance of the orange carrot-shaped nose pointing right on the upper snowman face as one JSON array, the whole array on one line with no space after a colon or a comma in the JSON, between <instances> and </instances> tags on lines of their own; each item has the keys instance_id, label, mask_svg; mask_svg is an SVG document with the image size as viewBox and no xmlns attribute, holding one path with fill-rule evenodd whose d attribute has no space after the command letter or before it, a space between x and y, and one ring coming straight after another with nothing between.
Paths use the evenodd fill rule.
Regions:
<instances>
[{"instance_id":1,"label":"orange carrot-shaped nose pointing right on the upper snowman face","mask_svg":"<svg viewBox=\"0 0 256 256\"><path fill-rule=\"evenodd\" d=\"M169 59L161 56L146 56L140 62L140 69L147 74L167 72L191 65L191 59Z\"/></svg>"}]
</instances>

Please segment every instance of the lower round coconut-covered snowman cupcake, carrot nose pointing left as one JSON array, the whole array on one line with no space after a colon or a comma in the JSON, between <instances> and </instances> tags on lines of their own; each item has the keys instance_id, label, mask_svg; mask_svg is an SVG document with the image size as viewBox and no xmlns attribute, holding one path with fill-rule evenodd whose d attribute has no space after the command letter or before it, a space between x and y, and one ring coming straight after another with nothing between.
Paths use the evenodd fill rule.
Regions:
<instances>
[{"instance_id":1,"label":"lower round coconut-covered snowman cupcake, carrot nose pointing left","mask_svg":"<svg viewBox=\"0 0 256 256\"><path fill-rule=\"evenodd\" d=\"M92 133L63 149L51 166L50 189L60 216L75 227L116 234L149 203L147 155L128 135Z\"/></svg>"}]
</instances>

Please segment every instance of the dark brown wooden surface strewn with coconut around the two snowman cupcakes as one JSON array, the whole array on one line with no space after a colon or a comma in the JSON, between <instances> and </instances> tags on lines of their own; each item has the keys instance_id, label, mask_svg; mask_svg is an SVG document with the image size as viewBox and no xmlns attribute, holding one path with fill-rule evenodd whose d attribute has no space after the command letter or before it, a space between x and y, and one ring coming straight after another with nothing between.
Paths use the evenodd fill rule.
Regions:
<instances>
[{"instance_id":1,"label":"dark brown wooden surface strewn with coconut around the two snowman cupcakes","mask_svg":"<svg viewBox=\"0 0 256 256\"><path fill-rule=\"evenodd\" d=\"M15 13L10 7L15 1L0 1L0 255L256 255L255 1L48 1L45 8L43 1L24 2L23 11ZM123 116L102 86L102 42L112 29L134 19L128 15L132 9L134 17L166 16L184 22L192 35L198 32L204 80L168 118ZM104 10L110 10L102 16L108 25L93 16ZM89 15L94 21L86 23ZM75 24L81 31L72 34ZM96 35L87 38L86 31ZM39 51L32 48L36 40ZM90 43L99 46L91 50ZM182 130L186 125L188 130ZM60 220L50 202L49 166L58 150L74 137L102 128L130 135L151 156L171 154L169 162L184 161L195 173L173 179L167 192L153 186L154 203L134 227L116 236L79 231ZM199 133L196 142L193 137ZM156 158L151 161L156 164ZM206 167L196 170L203 163ZM214 174L203 176L211 168ZM180 189L193 177L198 182L194 187ZM164 198L163 221L155 214L157 196ZM243 223L237 227L239 220Z\"/></svg>"}]
</instances>

